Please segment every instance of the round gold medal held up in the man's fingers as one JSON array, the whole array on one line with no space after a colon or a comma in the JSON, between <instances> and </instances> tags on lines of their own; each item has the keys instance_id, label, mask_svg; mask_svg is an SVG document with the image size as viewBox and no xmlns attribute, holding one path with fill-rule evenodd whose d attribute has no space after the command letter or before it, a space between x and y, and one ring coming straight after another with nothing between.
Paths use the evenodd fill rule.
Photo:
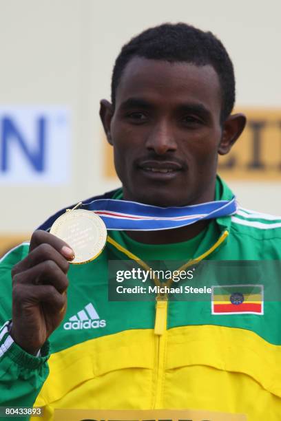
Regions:
<instances>
[{"instance_id":1,"label":"round gold medal held up in the man's fingers","mask_svg":"<svg viewBox=\"0 0 281 421\"><path fill-rule=\"evenodd\" d=\"M96 259L103 251L107 239L103 219L85 209L67 210L52 224L50 233L72 248L75 257L70 263L76 265Z\"/></svg>"}]
</instances>

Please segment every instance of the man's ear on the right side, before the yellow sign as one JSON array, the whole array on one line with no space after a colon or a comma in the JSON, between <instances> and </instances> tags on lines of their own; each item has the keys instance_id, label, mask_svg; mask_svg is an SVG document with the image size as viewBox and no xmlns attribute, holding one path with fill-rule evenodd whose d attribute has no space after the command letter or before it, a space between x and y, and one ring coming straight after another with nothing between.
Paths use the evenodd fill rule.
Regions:
<instances>
[{"instance_id":1,"label":"man's ear on the right side, before the yellow sign","mask_svg":"<svg viewBox=\"0 0 281 421\"><path fill-rule=\"evenodd\" d=\"M231 147L239 138L246 125L246 116L244 114L232 114L222 125L222 138L218 147L220 155L229 153Z\"/></svg>"}]
</instances>

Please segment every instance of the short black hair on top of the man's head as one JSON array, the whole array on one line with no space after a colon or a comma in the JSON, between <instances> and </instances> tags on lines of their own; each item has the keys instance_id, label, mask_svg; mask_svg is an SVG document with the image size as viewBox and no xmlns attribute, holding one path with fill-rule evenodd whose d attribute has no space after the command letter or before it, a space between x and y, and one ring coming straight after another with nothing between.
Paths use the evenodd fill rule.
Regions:
<instances>
[{"instance_id":1,"label":"short black hair on top of the man's head","mask_svg":"<svg viewBox=\"0 0 281 421\"><path fill-rule=\"evenodd\" d=\"M134 57L153 60L211 65L216 70L222 91L220 120L231 114L235 102L233 65L221 41L211 32L204 32L186 23L163 23L149 28L125 44L116 58L112 74L112 105L116 89L127 63Z\"/></svg>"}]
</instances>

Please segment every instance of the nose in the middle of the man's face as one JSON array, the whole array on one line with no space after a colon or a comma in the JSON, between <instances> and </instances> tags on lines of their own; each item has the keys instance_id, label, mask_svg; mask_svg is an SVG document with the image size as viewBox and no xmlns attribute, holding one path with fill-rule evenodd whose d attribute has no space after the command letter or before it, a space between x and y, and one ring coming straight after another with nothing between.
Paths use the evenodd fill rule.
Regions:
<instances>
[{"instance_id":1,"label":"nose in the middle of the man's face","mask_svg":"<svg viewBox=\"0 0 281 421\"><path fill-rule=\"evenodd\" d=\"M158 122L150 131L145 146L157 155L164 155L168 151L176 151L176 141L169 122Z\"/></svg>"}]
</instances>

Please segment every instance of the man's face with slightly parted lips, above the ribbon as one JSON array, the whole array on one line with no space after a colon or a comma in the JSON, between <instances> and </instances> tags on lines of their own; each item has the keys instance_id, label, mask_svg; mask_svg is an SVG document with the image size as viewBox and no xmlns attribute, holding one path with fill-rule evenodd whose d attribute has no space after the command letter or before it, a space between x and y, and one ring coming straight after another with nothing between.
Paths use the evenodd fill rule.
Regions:
<instances>
[{"instance_id":1,"label":"man's face with slightly parted lips, above the ribbon","mask_svg":"<svg viewBox=\"0 0 281 421\"><path fill-rule=\"evenodd\" d=\"M132 58L110 122L124 199L157 206L214 199L221 105L211 65Z\"/></svg>"}]
</instances>

